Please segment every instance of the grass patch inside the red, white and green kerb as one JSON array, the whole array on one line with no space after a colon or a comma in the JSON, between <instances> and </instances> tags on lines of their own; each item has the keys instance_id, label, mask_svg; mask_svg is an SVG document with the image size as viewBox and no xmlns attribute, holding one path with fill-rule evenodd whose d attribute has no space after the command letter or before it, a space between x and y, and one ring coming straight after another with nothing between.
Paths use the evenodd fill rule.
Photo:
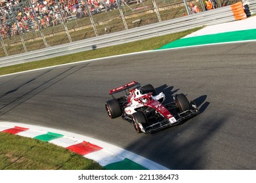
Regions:
<instances>
[{"instance_id":1,"label":"grass patch inside the red, white and green kerb","mask_svg":"<svg viewBox=\"0 0 256 183\"><path fill-rule=\"evenodd\" d=\"M0 133L1 170L102 170L98 163L37 139Z\"/></svg>"}]
</instances>

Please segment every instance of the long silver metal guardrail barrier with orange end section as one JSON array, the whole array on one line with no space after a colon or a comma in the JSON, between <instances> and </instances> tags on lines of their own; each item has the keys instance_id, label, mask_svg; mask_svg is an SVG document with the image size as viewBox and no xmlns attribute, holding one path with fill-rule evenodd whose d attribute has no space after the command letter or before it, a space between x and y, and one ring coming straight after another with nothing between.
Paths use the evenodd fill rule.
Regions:
<instances>
[{"instance_id":1,"label":"long silver metal guardrail barrier with orange end section","mask_svg":"<svg viewBox=\"0 0 256 183\"><path fill-rule=\"evenodd\" d=\"M107 46L114 46L126 42L140 41L142 39L177 33L205 25L215 25L241 20L242 18L246 17L245 13L242 13L241 8L241 5L235 4L232 6L216 8L156 24L136 27L125 31L110 33L108 35L100 35L98 37L93 37L82 41L61 44L51 48L43 48L41 50L35 50L33 52L26 52L14 56L7 56L0 58L0 67L54 58L56 56L65 56L68 54L94 50L96 48L104 48Z\"/></svg>"}]
</instances>

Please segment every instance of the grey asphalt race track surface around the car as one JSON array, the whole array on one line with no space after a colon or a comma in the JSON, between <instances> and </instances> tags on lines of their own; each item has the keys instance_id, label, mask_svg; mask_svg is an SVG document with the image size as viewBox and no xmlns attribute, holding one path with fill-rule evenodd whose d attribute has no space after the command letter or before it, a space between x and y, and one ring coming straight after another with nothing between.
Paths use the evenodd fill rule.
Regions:
<instances>
[{"instance_id":1,"label":"grey asphalt race track surface around the car","mask_svg":"<svg viewBox=\"0 0 256 183\"><path fill-rule=\"evenodd\" d=\"M256 42L160 50L0 77L0 120L53 127L115 144L169 169L256 169ZM184 93L201 114L138 134L104 103L137 80Z\"/></svg>"}]
</instances>

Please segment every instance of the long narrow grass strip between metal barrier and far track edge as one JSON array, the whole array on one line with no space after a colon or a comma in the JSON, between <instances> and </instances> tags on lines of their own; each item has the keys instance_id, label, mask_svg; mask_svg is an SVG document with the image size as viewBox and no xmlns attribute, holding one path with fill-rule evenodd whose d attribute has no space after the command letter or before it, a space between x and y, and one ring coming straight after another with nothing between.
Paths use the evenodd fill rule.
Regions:
<instances>
[{"instance_id":1,"label":"long narrow grass strip between metal barrier and far track edge","mask_svg":"<svg viewBox=\"0 0 256 183\"><path fill-rule=\"evenodd\" d=\"M126 44L120 44L117 46L110 46L107 48L99 48L96 50L80 52L77 54L70 54L68 56L60 56L51 59L44 59L41 61L33 61L30 63L22 63L18 65L12 65L8 67L1 67L0 68L0 75L7 75L11 73L17 73L21 71L28 71L32 69L39 69L43 67L49 67L53 65L60 65L64 63L72 63L76 61L83 61L88 59L95 59L95 58L104 58L107 56L116 56L120 54L129 54L132 52L141 52L145 50L154 50L160 48L164 44L169 42L175 41L184 37L194 31L197 31L199 28L190 29L188 31L182 31L180 33L173 33L170 35L163 35L161 37L154 37L150 39L145 39L142 41L137 42L129 42Z\"/></svg>"}]
</instances>

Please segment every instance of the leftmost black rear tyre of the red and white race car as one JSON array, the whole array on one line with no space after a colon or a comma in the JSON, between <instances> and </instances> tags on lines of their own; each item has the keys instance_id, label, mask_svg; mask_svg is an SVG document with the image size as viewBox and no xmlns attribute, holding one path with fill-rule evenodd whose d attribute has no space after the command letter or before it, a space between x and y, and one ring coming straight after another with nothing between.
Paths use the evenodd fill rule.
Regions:
<instances>
[{"instance_id":1,"label":"leftmost black rear tyre of the red and white race car","mask_svg":"<svg viewBox=\"0 0 256 183\"><path fill-rule=\"evenodd\" d=\"M122 114L122 111L117 99L112 99L110 101L107 101L105 104L105 107L106 107L106 111L108 112L108 116L110 116L110 118L112 119L117 118Z\"/></svg>"}]
</instances>

